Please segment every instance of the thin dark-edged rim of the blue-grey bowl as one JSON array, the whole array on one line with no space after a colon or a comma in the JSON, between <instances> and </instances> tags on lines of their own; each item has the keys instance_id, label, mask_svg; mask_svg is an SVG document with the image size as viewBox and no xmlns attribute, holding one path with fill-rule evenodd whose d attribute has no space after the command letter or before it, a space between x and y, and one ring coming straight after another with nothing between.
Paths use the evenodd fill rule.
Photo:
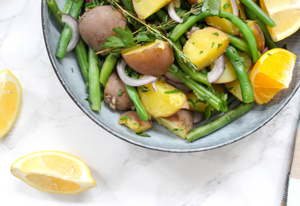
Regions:
<instances>
[{"instance_id":1,"label":"thin dark-edged rim of the blue-grey bowl","mask_svg":"<svg viewBox=\"0 0 300 206\"><path fill-rule=\"evenodd\" d=\"M75 102L75 104L83 111L83 113L85 113L91 120L93 120L96 124L98 124L99 126L101 126L103 129L105 129L106 131L108 131L110 134L113 134L114 136L129 142L131 144L137 145L137 146L141 146L144 148L148 148L148 149L153 149L153 150L157 150L157 151L163 151L163 152L200 152L200 151L206 151L206 150L211 150L211 149L215 149L215 148L219 148L231 143L234 143L238 140L243 139L244 137L247 137L248 135L252 134L253 132L257 131L259 128L261 128L262 126L264 126L266 123L268 123L275 115L277 115L282 109L283 107L285 107L285 105L289 102L290 99L292 99L292 97L294 96L294 94L296 93L296 91L298 90L299 86L300 86L300 81L298 81L298 83L295 86L295 89L293 90L293 92L285 99L285 101L280 105L280 107L277 109L276 112L274 112L273 114L271 114L267 119L265 119L263 122L261 122L256 128L253 128L252 130L246 132L245 134L230 140L226 143L220 143L220 144L216 144L214 146L209 146L209 147L204 147L204 148L195 148L195 149L166 149L166 148L160 148L160 147L155 147L146 143L140 143L137 142L135 140L131 140L125 136L123 136L122 134L117 133L116 131L114 131L113 129L107 127L104 123L102 123L101 121L99 121L95 116L93 116L92 113L90 113L87 109L85 109L85 107L76 99L76 97L74 96L74 94L72 93L72 91L70 90L70 88L67 86L67 84L65 83L64 79L62 78L62 75L60 74L58 67L55 63L54 57L52 55L51 52L51 48L50 48L50 43L49 43L49 39L47 36L47 25L46 25L46 0L42 0L42 5L41 5L41 16L42 16L42 28L43 28L43 35L44 35L44 40L45 40L45 45L46 45L46 49L47 49L47 53L50 59L50 62L52 64L52 67L54 69L54 72L58 78L58 80L60 81L61 85L64 87L64 89L66 90L66 92L68 93L68 95L70 96L70 98L73 100L73 102Z\"/></svg>"}]
</instances>

